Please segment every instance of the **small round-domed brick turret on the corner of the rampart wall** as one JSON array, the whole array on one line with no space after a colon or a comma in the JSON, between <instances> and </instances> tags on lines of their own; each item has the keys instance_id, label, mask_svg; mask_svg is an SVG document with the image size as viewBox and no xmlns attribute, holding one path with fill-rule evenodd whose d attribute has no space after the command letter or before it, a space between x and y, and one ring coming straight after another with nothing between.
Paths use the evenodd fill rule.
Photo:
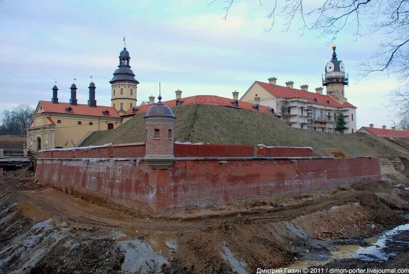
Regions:
<instances>
[{"instance_id":1,"label":"small round-domed brick turret on the corner of the rampart wall","mask_svg":"<svg viewBox=\"0 0 409 274\"><path fill-rule=\"evenodd\" d=\"M172 110L164 105L162 97L153 104L144 117L146 125L146 155L144 160L153 169L167 169L173 161L173 128L175 116Z\"/></svg>"}]
</instances>

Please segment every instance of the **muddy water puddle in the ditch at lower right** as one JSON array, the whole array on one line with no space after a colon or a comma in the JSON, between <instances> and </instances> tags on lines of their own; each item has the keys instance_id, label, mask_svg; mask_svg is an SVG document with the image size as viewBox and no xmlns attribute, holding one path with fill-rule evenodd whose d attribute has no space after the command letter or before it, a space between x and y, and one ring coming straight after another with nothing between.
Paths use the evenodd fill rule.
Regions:
<instances>
[{"instance_id":1,"label":"muddy water puddle in the ditch at lower right","mask_svg":"<svg viewBox=\"0 0 409 274\"><path fill-rule=\"evenodd\" d=\"M407 214L407 213L406 213ZM388 260L390 256L395 255L394 253L382 252L382 248L386 247L387 240L389 240L393 235L398 234L401 231L409 230L409 223L399 225L392 230L383 232L378 237L371 237L365 241L369 244L368 246L359 245L338 245L336 246L338 250L332 251L330 254L323 256L322 253L313 252L308 254L309 258L314 259L301 259L296 263L289 265L289 269L301 269L310 266L320 266L332 262L334 260L340 259L360 259L360 260L370 260L370 261L385 261Z\"/></svg>"}]
</instances>

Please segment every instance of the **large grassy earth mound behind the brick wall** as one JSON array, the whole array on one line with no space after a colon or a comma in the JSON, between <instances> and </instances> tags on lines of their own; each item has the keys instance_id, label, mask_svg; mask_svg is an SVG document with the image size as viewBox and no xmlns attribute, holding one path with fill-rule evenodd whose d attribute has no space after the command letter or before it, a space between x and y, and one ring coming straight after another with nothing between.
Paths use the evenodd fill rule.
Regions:
<instances>
[{"instance_id":1,"label":"large grassy earth mound behind the brick wall","mask_svg":"<svg viewBox=\"0 0 409 274\"><path fill-rule=\"evenodd\" d=\"M290 127L268 113L203 104L172 108L176 120L174 136L180 142L209 142L257 146L311 146L315 155L329 155L328 148L347 156L398 156L395 148L366 134L339 134ZM81 146L145 141L145 113L132 117L113 130L95 131ZM263 125L260 128L259 125ZM336 145L335 145L336 144Z\"/></svg>"}]
</instances>

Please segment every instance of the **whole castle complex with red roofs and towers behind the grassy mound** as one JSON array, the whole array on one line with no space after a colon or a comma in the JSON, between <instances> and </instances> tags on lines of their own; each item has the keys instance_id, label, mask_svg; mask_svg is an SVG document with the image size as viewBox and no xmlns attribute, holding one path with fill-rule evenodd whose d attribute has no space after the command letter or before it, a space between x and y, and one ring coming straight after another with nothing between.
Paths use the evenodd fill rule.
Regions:
<instances>
[{"instance_id":1,"label":"whole castle complex with red roofs and towers behind the grassy mound","mask_svg":"<svg viewBox=\"0 0 409 274\"><path fill-rule=\"evenodd\" d=\"M356 131L356 107L345 98L345 85L348 75L344 63L336 57L333 46L332 59L325 67L323 88L316 88L315 93L308 92L308 85L301 89L293 87L293 82L286 86L277 85L277 78L268 79L268 83L255 81L247 92L238 99L238 92L233 92L233 100L219 96L199 95L182 98L181 90L176 90L175 100L161 102L173 107L192 103L212 104L270 113L292 127L300 129L334 131L336 117L343 115L347 121L349 133ZM52 90L51 101L39 101L33 113L33 123L27 128L27 148L33 152L42 149L76 147L92 132L110 130L119 127L132 116L147 112L154 105L155 97L149 102L137 106L137 85L139 81L130 66L129 52L124 49L119 55L118 69L113 73L111 84L111 106L98 106L96 85L89 83L87 104L79 104L77 86L73 83L70 102L59 102L58 87Z\"/></svg>"}]
</instances>

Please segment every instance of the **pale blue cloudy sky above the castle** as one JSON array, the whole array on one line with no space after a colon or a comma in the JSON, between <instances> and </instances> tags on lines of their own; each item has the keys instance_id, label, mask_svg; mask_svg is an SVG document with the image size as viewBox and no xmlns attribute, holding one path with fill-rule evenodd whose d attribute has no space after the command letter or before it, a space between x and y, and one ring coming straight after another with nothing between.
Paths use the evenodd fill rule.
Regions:
<instances>
[{"instance_id":1,"label":"pale blue cloudy sky above the castle","mask_svg":"<svg viewBox=\"0 0 409 274\"><path fill-rule=\"evenodd\" d=\"M288 32L269 25L268 3L236 1L223 20L223 1L25 1L0 3L0 113L18 104L35 107L51 100L57 81L60 102L68 102L70 86L77 80L79 103L88 99L90 76L97 86L98 105L110 105L112 73L124 47L136 79L139 103L158 95L183 97L243 95L254 81L294 86L321 86L321 76L331 58L330 37L302 35L298 21ZM263 2L264 3L264 2ZM370 24L370 22L367 22ZM276 25L276 26L277 26ZM353 30L338 35L337 57L349 73L345 90L357 106L357 126L393 126L399 119L388 108L387 95L397 87L393 77L376 74L359 79L357 64L370 58L381 37L365 35L355 40Z\"/></svg>"}]
</instances>

